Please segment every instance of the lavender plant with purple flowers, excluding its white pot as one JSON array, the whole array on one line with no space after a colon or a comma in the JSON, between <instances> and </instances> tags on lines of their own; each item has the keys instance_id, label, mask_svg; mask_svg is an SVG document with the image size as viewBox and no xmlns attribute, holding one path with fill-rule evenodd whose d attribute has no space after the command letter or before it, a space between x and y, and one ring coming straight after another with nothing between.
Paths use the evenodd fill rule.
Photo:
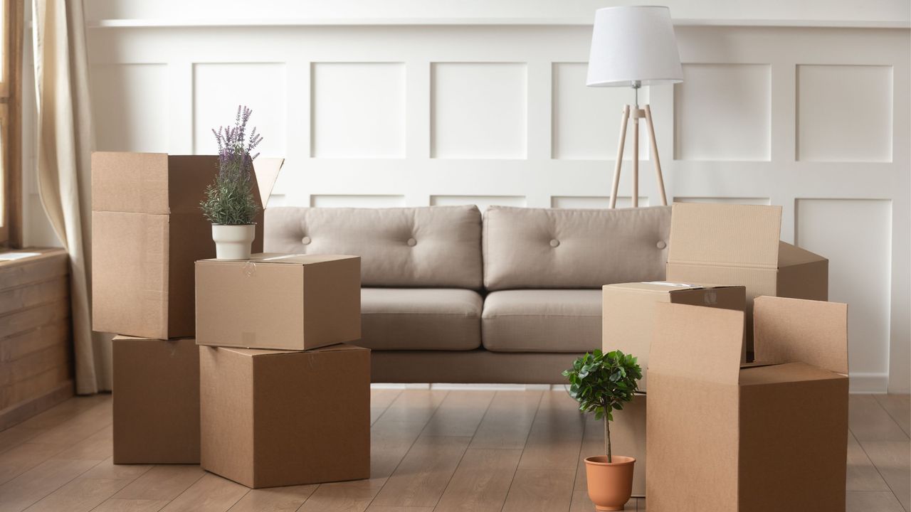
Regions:
<instances>
[{"instance_id":1,"label":"lavender plant with purple flowers, excluding its white pot","mask_svg":"<svg viewBox=\"0 0 911 512\"><path fill-rule=\"evenodd\" d=\"M219 143L219 175L206 187L200 209L213 224L252 224L260 207L253 196L251 170L259 153L251 152L260 145L262 136L253 128L246 136L247 122L253 111L238 106L233 127L214 128L212 133Z\"/></svg>"}]
</instances>

